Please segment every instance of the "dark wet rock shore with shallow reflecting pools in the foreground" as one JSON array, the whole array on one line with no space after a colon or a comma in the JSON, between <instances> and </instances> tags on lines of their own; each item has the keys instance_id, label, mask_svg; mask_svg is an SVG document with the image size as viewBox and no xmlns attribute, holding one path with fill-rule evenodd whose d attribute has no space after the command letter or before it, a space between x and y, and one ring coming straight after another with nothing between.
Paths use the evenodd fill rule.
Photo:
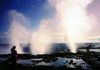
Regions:
<instances>
[{"instance_id":1,"label":"dark wet rock shore with shallow reflecting pools in the foreground","mask_svg":"<svg viewBox=\"0 0 100 70\"><path fill-rule=\"evenodd\" d=\"M7 64L9 54L0 55L0 70L11 68ZM44 55L19 54L16 70L33 70L33 69L81 69L96 70L100 68L100 54L97 52L55 52Z\"/></svg>"}]
</instances>

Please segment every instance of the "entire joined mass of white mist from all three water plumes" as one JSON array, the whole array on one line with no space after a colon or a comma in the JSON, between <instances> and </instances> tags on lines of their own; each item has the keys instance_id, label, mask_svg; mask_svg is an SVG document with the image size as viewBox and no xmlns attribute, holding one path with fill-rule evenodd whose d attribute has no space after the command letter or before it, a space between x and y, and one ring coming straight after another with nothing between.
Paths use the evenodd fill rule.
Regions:
<instances>
[{"instance_id":1,"label":"entire joined mass of white mist from all three water plumes","mask_svg":"<svg viewBox=\"0 0 100 70\"><path fill-rule=\"evenodd\" d=\"M51 52L53 43L66 43L72 53L76 53L75 43L87 42L94 37L95 16L89 14L87 7L93 0L48 0L45 6L55 8L55 15L42 19L36 29L29 30L26 26L28 19L21 13L11 10L9 40L11 46L17 46L23 53L21 43L30 44L31 54L46 54Z\"/></svg>"}]
</instances>

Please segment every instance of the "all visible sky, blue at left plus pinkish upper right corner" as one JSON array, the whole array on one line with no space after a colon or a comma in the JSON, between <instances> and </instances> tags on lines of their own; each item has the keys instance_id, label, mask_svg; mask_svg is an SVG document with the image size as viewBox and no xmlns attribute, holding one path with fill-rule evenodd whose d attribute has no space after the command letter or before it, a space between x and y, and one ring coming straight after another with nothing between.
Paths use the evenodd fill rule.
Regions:
<instances>
[{"instance_id":1,"label":"all visible sky, blue at left plus pinkish upper right corner","mask_svg":"<svg viewBox=\"0 0 100 70\"><path fill-rule=\"evenodd\" d=\"M43 19L54 18L56 10L48 6L49 0L0 0L0 43L6 43L10 27L10 11L21 13L27 18L29 30L37 29ZM100 0L94 0L87 7L87 12L96 17L95 29L100 27ZM95 31L96 32L96 31Z\"/></svg>"}]
</instances>

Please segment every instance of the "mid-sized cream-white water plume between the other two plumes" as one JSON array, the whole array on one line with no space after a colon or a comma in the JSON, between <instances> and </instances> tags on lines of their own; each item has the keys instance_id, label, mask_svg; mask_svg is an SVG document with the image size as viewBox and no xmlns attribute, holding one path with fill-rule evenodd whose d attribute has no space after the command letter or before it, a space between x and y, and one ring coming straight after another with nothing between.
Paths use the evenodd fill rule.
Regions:
<instances>
[{"instance_id":1,"label":"mid-sized cream-white water plume between the other two plumes","mask_svg":"<svg viewBox=\"0 0 100 70\"><path fill-rule=\"evenodd\" d=\"M33 31L31 35L31 52L34 55L50 53L50 46L53 43L52 21L42 20L37 31Z\"/></svg>"}]
</instances>

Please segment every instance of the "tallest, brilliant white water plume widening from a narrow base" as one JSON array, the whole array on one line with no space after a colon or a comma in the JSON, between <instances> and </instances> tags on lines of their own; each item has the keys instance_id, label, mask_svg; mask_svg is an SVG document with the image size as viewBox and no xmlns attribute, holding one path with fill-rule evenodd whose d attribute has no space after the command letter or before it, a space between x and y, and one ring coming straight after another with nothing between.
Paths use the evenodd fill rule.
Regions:
<instances>
[{"instance_id":1,"label":"tallest, brilliant white water plume widening from a narrow base","mask_svg":"<svg viewBox=\"0 0 100 70\"><path fill-rule=\"evenodd\" d=\"M86 10L92 0L50 0L49 4L56 9L56 21L61 26L66 44L70 51L76 53L76 42L84 40L91 30L91 17Z\"/></svg>"}]
</instances>

